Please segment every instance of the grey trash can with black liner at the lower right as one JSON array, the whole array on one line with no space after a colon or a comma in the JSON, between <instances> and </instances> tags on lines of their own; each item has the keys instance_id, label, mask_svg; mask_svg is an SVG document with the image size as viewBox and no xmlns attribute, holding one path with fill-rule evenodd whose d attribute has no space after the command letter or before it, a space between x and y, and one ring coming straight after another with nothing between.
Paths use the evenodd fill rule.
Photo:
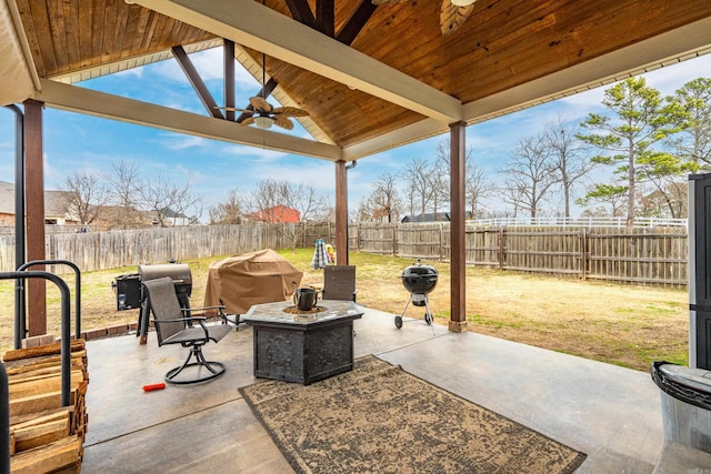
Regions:
<instances>
[{"instance_id":1,"label":"grey trash can with black liner at the lower right","mask_svg":"<svg viewBox=\"0 0 711 474\"><path fill-rule=\"evenodd\" d=\"M652 381L662 391L664 441L711 454L711 371L654 362Z\"/></svg>"}]
</instances>

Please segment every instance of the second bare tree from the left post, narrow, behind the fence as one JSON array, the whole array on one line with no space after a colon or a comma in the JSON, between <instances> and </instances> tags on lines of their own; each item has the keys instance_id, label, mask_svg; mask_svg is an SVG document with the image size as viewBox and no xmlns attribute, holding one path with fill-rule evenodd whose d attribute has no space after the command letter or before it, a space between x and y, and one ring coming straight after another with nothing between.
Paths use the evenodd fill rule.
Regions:
<instances>
[{"instance_id":1,"label":"second bare tree from the left post, narrow, behind the fence","mask_svg":"<svg viewBox=\"0 0 711 474\"><path fill-rule=\"evenodd\" d=\"M134 162L119 161L111 164L113 172L107 175L111 204L117 206L112 219L120 228L130 229L143 224L140 206L140 174Z\"/></svg>"}]
</instances>

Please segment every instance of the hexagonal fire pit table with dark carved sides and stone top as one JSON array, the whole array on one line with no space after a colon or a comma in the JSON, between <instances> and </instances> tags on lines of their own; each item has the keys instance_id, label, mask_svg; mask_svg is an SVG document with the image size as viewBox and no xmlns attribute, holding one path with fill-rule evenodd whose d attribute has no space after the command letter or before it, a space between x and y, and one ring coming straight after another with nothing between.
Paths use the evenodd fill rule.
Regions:
<instances>
[{"instance_id":1,"label":"hexagonal fire pit table with dark carved sides and stone top","mask_svg":"<svg viewBox=\"0 0 711 474\"><path fill-rule=\"evenodd\" d=\"M353 370L352 301L321 300L311 313L291 301L256 304L242 316L253 327L254 376L309 385Z\"/></svg>"}]
</instances>

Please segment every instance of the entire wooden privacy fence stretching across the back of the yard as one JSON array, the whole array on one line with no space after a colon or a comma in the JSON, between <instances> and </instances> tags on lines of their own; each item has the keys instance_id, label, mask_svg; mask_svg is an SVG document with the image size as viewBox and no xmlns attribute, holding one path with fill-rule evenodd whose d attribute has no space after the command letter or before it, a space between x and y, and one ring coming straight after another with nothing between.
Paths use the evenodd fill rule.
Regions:
<instances>
[{"instance_id":1,"label":"entire wooden privacy fence stretching across the back of the yard","mask_svg":"<svg viewBox=\"0 0 711 474\"><path fill-rule=\"evenodd\" d=\"M47 259L81 271L117 269L170 259L228 255L259 249L333 243L332 223L202 225L47 234ZM349 249L408 259L450 259L449 223L358 223ZM337 249L338 251L338 249ZM688 283L687 230L655 228L505 228L465 230L467 264L502 270L683 286ZM0 271L14 270L14 236L0 235ZM52 272L66 272L58 266Z\"/></svg>"}]
</instances>

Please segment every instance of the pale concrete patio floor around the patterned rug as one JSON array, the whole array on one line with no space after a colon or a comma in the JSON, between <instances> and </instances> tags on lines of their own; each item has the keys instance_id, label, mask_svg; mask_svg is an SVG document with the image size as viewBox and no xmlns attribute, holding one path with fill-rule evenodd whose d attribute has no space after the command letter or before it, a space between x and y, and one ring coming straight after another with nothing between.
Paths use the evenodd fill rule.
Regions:
<instances>
[{"instance_id":1,"label":"pale concrete patio floor around the patterned rug","mask_svg":"<svg viewBox=\"0 0 711 474\"><path fill-rule=\"evenodd\" d=\"M365 310L354 322L356 356L374 354L440 387L588 454L579 473L651 473L663 447L659 389L648 373L423 321L395 329ZM90 341L84 473L288 473L291 467L241 399L252 384L252 331L243 324L208 360L220 379L163 381L187 350L133 335Z\"/></svg>"}]
</instances>

